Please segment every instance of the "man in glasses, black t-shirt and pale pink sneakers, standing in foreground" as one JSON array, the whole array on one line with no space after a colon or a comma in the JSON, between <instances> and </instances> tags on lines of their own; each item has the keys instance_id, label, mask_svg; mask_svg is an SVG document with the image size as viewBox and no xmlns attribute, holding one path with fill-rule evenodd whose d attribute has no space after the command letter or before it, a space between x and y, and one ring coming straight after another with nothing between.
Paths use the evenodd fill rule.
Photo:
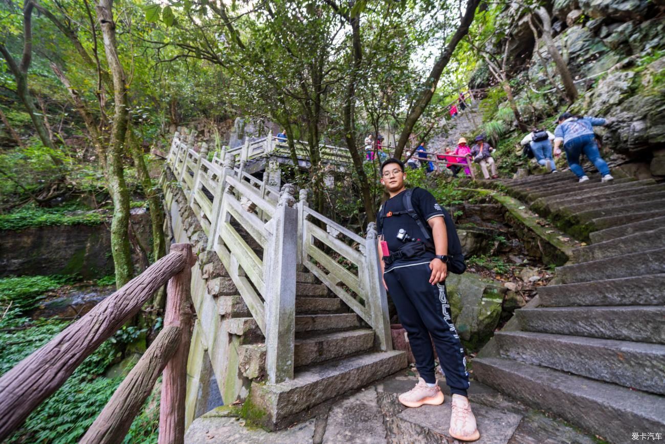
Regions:
<instances>
[{"instance_id":1,"label":"man in glasses, black t-shirt and pale pink sneakers, standing in foreground","mask_svg":"<svg viewBox=\"0 0 665 444\"><path fill-rule=\"evenodd\" d=\"M434 196L422 188L406 190L404 164L390 158L381 165L381 183L390 198L376 220L384 286L390 292L402 326L408 333L416 367L416 387L399 396L407 407L440 405L444 394L436 383L432 339L452 393L449 433L462 441L479 439L475 417L467 398L469 374L460 337L452 323L446 294L448 236L444 212ZM407 208L408 193L410 206ZM415 212L413 211L415 210ZM416 217L419 219L416 220ZM426 226L426 227L425 227ZM434 252L426 248L422 230L430 230ZM430 339L430 335L432 339Z\"/></svg>"}]
</instances>

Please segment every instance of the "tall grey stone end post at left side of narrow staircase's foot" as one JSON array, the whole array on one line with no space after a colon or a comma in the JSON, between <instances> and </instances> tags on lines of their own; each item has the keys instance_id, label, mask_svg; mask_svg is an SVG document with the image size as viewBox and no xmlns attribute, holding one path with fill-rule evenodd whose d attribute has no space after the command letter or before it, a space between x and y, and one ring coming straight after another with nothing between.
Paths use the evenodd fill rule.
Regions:
<instances>
[{"instance_id":1,"label":"tall grey stone end post at left side of narrow staircase's foot","mask_svg":"<svg viewBox=\"0 0 665 444\"><path fill-rule=\"evenodd\" d=\"M265 367L271 384L293 378L298 210L285 184L273 214L265 298Z\"/></svg>"}]
</instances>

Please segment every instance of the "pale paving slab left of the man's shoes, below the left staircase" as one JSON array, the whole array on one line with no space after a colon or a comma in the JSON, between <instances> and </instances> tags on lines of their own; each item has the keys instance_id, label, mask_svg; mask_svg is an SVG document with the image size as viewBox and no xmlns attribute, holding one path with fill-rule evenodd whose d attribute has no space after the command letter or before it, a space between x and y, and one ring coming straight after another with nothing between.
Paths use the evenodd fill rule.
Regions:
<instances>
[{"instance_id":1,"label":"pale paving slab left of the man's shoes, below the left staircase","mask_svg":"<svg viewBox=\"0 0 665 444\"><path fill-rule=\"evenodd\" d=\"M336 403L328 413L323 444L378 444L386 442L383 415L374 387Z\"/></svg>"}]
</instances>

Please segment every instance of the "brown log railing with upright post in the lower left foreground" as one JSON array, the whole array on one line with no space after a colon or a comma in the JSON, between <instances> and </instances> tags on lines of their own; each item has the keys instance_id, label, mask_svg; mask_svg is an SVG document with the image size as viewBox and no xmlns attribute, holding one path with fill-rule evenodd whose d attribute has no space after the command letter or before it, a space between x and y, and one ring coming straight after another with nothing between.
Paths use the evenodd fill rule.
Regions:
<instances>
[{"instance_id":1,"label":"brown log railing with upright post in the lower left foreground","mask_svg":"<svg viewBox=\"0 0 665 444\"><path fill-rule=\"evenodd\" d=\"M195 262L190 244L172 245L164 258L0 377L0 441L9 437L88 355L135 316L168 281L164 329L122 381L80 443L121 443L162 370L159 442L183 443L185 365L192 330L190 280Z\"/></svg>"}]
</instances>

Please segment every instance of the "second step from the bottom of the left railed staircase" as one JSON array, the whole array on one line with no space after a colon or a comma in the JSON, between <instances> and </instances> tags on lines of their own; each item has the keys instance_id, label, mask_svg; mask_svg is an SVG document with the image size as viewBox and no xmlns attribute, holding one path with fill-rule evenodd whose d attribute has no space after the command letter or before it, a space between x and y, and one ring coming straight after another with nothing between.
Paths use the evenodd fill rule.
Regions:
<instances>
[{"instance_id":1,"label":"second step from the bottom of the left railed staircase","mask_svg":"<svg viewBox=\"0 0 665 444\"><path fill-rule=\"evenodd\" d=\"M294 365L304 367L317 362L354 355L374 346L374 330L361 328L346 332L302 334L295 337Z\"/></svg>"}]
</instances>

